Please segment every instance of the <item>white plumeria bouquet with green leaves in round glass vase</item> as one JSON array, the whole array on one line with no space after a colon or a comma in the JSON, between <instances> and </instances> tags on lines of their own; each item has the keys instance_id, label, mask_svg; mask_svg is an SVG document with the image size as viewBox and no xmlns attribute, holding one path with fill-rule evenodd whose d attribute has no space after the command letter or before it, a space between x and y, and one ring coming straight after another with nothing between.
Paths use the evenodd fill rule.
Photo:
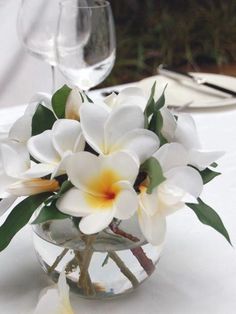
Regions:
<instances>
[{"instance_id":1,"label":"white plumeria bouquet with green leaves in round glass vase","mask_svg":"<svg viewBox=\"0 0 236 314\"><path fill-rule=\"evenodd\" d=\"M222 152L201 148L194 120L172 114L164 92L137 87L92 101L63 86L39 97L0 145L0 251L27 223L47 273L87 297L113 297L155 269L166 217L187 207L229 235L200 198Z\"/></svg>"}]
</instances>

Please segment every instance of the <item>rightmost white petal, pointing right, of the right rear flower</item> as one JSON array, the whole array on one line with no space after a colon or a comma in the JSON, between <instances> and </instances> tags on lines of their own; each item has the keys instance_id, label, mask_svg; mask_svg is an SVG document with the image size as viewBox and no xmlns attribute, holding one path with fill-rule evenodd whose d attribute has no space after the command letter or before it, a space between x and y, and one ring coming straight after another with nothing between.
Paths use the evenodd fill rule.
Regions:
<instances>
[{"instance_id":1,"label":"rightmost white petal, pointing right, of the right rear flower","mask_svg":"<svg viewBox=\"0 0 236 314\"><path fill-rule=\"evenodd\" d=\"M220 151L191 149L189 151L189 164L195 166L199 170L203 170L223 155L224 152Z\"/></svg>"}]
</instances>

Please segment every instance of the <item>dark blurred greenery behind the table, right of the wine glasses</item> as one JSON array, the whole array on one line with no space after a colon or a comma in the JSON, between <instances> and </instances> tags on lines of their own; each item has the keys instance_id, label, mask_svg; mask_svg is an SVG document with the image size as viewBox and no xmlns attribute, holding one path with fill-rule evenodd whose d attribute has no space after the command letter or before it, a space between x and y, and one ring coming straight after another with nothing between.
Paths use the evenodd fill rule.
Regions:
<instances>
[{"instance_id":1,"label":"dark blurred greenery behind the table, right of the wine glasses","mask_svg":"<svg viewBox=\"0 0 236 314\"><path fill-rule=\"evenodd\" d=\"M236 76L236 0L110 0L117 59L100 87L177 69Z\"/></svg>"}]
</instances>

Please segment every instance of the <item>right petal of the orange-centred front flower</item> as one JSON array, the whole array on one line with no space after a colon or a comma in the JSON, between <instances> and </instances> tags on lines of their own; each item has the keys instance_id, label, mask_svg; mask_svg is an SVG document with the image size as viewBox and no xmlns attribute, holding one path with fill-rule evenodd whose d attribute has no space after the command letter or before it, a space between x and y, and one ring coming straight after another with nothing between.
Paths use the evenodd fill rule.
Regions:
<instances>
[{"instance_id":1,"label":"right petal of the orange-centred front flower","mask_svg":"<svg viewBox=\"0 0 236 314\"><path fill-rule=\"evenodd\" d=\"M128 182L118 182L116 184L121 189L114 200L115 217L118 219L129 219L138 209L138 197Z\"/></svg>"}]
</instances>

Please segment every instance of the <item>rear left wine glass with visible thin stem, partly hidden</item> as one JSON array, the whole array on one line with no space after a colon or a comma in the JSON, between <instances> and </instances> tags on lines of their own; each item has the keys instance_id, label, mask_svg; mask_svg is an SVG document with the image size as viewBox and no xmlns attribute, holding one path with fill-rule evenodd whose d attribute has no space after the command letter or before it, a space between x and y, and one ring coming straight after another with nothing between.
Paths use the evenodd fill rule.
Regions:
<instances>
[{"instance_id":1,"label":"rear left wine glass with visible thin stem, partly hidden","mask_svg":"<svg viewBox=\"0 0 236 314\"><path fill-rule=\"evenodd\" d=\"M53 91L59 3L59 0L22 0L17 21L19 37L26 50L51 65Z\"/></svg>"}]
</instances>

